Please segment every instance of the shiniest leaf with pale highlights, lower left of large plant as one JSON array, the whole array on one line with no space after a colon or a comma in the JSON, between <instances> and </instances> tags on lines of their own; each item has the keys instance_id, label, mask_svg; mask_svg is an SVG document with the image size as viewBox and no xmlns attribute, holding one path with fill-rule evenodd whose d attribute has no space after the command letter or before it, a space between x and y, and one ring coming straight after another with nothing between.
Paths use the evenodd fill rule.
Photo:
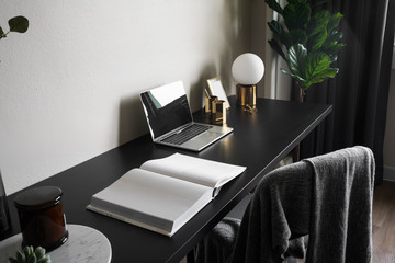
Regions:
<instances>
[{"instance_id":1,"label":"shiniest leaf with pale highlights, lower left of large plant","mask_svg":"<svg viewBox=\"0 0 395 263\"><path fill-rule=\"evenodd\" d=\"M292 46L286 54L286 61L292 73L305 79L307 49L303 45Z\"/></svg>"}]
</instances>

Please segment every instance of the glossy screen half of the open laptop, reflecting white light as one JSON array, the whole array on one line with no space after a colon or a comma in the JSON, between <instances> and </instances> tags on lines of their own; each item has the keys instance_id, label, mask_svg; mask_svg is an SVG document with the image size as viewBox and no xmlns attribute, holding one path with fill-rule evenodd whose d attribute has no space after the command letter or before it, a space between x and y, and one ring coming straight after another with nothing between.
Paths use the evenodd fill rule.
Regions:
<instances>
[{"instance_id":1,"label":"glossy screen half of the open laptop, reflecting white light","mask_svg":"<svg viewBox=\"0 0 395 263\"><path fill-rule=\"evenodd\" d=\"M182 81L142 92L140 99L154 139L192 122Z\"/></svg>"}]
</instances>

